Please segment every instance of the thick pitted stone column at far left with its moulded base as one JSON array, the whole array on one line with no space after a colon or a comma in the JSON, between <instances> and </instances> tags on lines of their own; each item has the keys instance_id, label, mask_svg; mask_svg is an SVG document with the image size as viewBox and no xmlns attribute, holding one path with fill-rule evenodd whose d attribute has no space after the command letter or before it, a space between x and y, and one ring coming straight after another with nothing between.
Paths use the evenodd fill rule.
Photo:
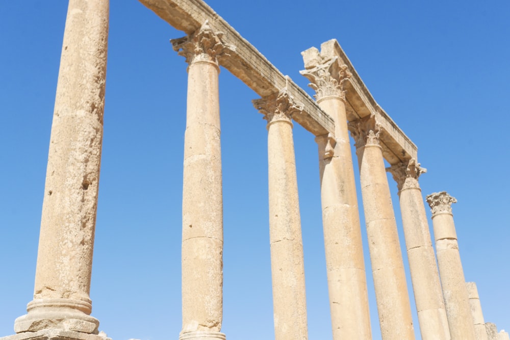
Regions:
<instances>
[{"instance_id":1,"label":"thick pitted stone column at far left with its moulded base","mask_svg":"<svg viewBox=\"0 0 510 340\"><path fill-rule=\"evenodd\" d=\"M108 12L108 0L69 1L34 299L27 315L16 319L16 333L53 329L97 334L99 321L90 316L89 293L103 142Z\"/></svg>"}]
</instances>

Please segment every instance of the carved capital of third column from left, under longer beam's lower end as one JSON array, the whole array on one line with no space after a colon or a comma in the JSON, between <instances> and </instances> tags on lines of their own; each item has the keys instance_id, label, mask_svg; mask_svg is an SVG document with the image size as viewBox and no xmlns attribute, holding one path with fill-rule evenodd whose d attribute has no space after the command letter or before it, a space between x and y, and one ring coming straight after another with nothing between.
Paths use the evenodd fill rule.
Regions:
<instances>
[{"instance_id":1,"label":"carved capital of third column from left, under longer beam's lower end","mask_svg":"<svg viewBox=\"0 0 510 340\"><path fill-rule=\"evenodd\" d=\"M268 125L275 121L286 121L292 124L292 115L303 111L302 104L294 100L287 88L267 97L254 99L252 103L264 115Z\"/></svg>"}]
</instances>

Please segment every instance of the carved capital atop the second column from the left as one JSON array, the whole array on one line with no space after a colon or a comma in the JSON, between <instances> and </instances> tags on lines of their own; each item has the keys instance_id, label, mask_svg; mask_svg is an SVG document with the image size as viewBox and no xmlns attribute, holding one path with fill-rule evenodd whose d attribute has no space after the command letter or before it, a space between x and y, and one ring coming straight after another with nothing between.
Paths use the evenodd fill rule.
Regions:
<instances>
[{"instance_id":1,"label":"carved capital atop the second column from the left","mask_svg":"<svg viewBox=\"0 0 510 340\"><path fill-rule=\"evenodd\" d=\"M218 64L217 57L226 54L226 45L221 41L222 32L215 32L209 25L209 21L191 35L171 39L173 50L178 55L186 58L191 65L195 62L212 62Z\"/></svg>"}]
</instances>

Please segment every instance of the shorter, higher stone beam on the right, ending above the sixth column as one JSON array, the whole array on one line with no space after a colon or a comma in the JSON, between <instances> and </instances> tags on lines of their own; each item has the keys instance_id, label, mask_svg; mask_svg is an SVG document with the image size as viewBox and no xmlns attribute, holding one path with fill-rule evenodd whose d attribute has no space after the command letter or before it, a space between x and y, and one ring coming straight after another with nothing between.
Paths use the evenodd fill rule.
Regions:
<instances>
[{"instance_id":1,"label":"shorter, higher stone beam on the right, ending above the sixth column","mask_svg":"<svg viewBox=\"0 0 510 340\"><path fill-rule=\"evenodd\" d=\"M417 160L416 145L377 104L336 39L321 44L320 57L323 61L336 58L340 65L347 65L350 72L344 84L347 120L354 121L375 115L375 120L381 127L382 155L388 163L395 165L410 159Z\"/></svg>"}]
</instances>

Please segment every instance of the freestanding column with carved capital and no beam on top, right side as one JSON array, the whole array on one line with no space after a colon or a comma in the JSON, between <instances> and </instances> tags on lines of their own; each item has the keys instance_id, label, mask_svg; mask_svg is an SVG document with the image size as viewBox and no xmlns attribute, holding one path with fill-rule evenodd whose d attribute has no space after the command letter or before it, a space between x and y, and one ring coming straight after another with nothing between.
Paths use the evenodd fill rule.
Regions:
<instances>
[{"instance_id":1,"label":"freestanding column with carved capital and no beam on top, right side","mask_svg":"<svg viewBox=\"0 0 510 340\"><path fill-rule=\"evenodd\" d=\"M451 213L451 203L457 200L445 191L428 195L426 199L432 211L439 274L451 338L474 340L476 336L473 317Z\"/></svg>"}]
</instances>

